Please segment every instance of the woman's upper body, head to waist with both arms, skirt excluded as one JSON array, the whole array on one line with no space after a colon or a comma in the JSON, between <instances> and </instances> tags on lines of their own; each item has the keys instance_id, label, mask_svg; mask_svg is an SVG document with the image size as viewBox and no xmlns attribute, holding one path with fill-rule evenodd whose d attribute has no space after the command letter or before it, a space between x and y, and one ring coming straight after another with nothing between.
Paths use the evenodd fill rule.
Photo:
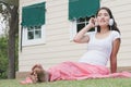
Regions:
<instances>
[{"instance_id":1,"label":"woman's upper body, head to waist with both arms, skirt excluded","mask_svg":"<svg viewBox=\"0 0 131 87\"><path fill-rule=\"evenodd\" d=\"M97 26L97 32L88 33L85 36L85 33L95 26ZM92 17L90 20L88 25L74 37L74 41L88 44L87 52L80 59L80 62L106 65L109 59L110 71L111 73L116 73L117 53L120 47L120 32L108 8L100 8L96 14L96 18Z\"/></svg>"}]
</instances>

